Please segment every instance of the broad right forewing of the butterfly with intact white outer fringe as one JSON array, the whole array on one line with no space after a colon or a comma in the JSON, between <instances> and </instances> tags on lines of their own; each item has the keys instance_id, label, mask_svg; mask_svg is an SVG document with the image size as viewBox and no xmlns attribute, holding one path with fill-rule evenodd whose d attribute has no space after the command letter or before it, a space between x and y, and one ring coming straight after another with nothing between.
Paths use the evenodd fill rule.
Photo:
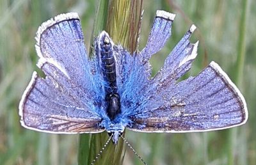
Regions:
<instances>
[{"instance_id":1,"label":"broad right forewing of the butterfly with intact white outer fringe","mask_svg":"<svg viewBox=\"0 0 256 165\"><path fill-rule=\"evenodd\" d=\"M196 132L227 129L246 122L243 95L214 62L196 77L159 91L132 118L142 132Z\"/></svg>"}]
</instances>

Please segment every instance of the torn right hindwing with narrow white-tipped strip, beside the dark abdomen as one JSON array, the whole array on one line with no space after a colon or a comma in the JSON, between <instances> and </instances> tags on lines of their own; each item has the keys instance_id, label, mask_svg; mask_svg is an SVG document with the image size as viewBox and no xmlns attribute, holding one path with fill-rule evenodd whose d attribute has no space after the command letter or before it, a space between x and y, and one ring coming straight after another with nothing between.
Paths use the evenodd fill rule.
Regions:
<instances>
[{"instance_id":1,"label":"torn right hindwing with narrow white-tipped strip, beside the dark abdomen","mask_svg":"<svg viewBox=\"0 0 256 165\"><path fill-rule=\"evenodd\" d=\"M116 70L118 93L120 94L123 116L136 113L140 104L147 100L152 90L150 57L163 48L171 35L172 22L175 15L157 11L156 18L145 48L133 56L118 47L116 54Z\"/></svg>"}]
</instances>

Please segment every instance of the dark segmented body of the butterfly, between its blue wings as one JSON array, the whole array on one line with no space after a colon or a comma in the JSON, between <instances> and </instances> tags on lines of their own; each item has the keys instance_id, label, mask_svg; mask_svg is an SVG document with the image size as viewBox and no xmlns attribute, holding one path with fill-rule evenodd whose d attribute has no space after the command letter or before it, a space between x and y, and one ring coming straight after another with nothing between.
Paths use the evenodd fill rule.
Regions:
<instances>
[{"instance_id":1,"label":"dark segmented body of the butterfly, between its blue wings","mask_svg":"<svg viewBox=\"0 0 256 165\"><path fill-rule=\"evenodd\" d=\"M120 113L120 97L117 93L116 86L116 65L113 56L113 43L106 32L102 32L99 37L100 61L102 75L106 85L104 90L106 93L106 113L110 120L114 120L116 115Z\"/></svg>"}]
</instances>

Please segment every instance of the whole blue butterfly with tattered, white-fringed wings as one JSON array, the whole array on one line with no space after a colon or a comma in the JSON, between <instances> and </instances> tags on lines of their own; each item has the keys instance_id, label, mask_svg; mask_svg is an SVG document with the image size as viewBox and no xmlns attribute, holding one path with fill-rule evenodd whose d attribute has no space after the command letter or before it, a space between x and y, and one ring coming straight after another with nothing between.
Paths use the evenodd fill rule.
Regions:
<instances>
[{"instance_id":1,"label":"whole blue butterfly with tattered, white-fringed wings","mask_svg":"<svg viewBox=\"0 0 256 165\"><path fill-rule=\"evenodd\" d=\"M201 132L242 125L246 102L212 61L195 77L177 81L191 68L198 42L182 37L151 77L149 59L171 35L175 15L158 10L142 51L131 54L106 31L88 56L77 13L47 20L36 33L37 66L19 104L23 127L56 134L106 130L113 142L125 128L138 132Z\"/></svg>"}]
</instances>

